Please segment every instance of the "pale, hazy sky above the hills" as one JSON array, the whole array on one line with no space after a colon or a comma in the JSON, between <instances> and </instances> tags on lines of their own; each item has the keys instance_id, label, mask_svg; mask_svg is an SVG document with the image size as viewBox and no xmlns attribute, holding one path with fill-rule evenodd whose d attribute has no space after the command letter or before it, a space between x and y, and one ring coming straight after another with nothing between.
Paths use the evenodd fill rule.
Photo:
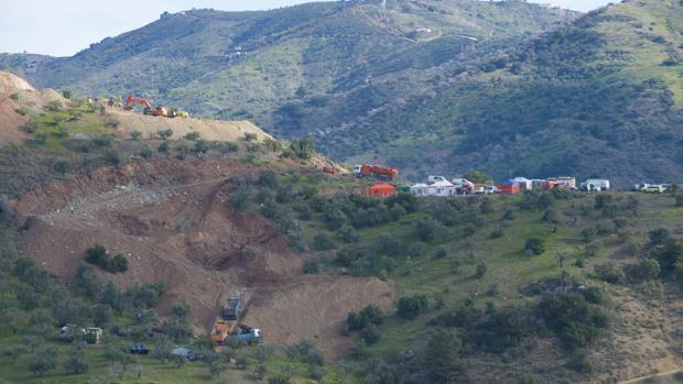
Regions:
<instances>
[{"instance_id":1,"label":"pale, hazy sky above the hills","mask_svg":"<svg viewBox=\"0 0 683 384\"><path fill-rule=\"evenodd\" d=\"M0 0L0 53L71 56L107 36L159 19L163 11L273 9L312 0ZM589 11L609 0L530 0Z\"/></svg>"}]
</instances>

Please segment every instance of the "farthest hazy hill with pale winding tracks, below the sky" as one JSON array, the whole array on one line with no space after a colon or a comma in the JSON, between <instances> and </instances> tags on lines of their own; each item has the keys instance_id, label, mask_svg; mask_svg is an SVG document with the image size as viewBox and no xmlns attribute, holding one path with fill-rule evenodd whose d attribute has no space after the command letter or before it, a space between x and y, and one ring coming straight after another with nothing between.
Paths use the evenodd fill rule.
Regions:
<instances>
[{"instance_id":1,"label":"farthest hazy hill with pale winding tracks, below the sky","mask_svg":"<svg viewBox=\"0 0 683 384\"><path fill-rule=\"evenodd\" d=\"M193 10L164 14L73 57L0 55L0 65L22 70L40 87L141 92L205 118L248 119L294 138L336 131L379 106L430 94L444 68L576 17L522 1L476 0ZM383 83L379 91L368 88Z\"/></svg>"}]
</instances>

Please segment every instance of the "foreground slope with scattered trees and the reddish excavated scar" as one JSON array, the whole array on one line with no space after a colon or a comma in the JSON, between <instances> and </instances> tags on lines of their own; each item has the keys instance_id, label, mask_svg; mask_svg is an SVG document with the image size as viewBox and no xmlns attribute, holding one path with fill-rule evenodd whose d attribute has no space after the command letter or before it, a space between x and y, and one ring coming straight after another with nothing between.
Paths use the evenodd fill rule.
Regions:
<instances>
[{"instance_id":1,"label":"foreground slope with scattered trees and the reddish excavated scar","mask_svg":"<svg viewBox=\"0 0 683 384\"><path fill-rule=\"evenodd\" d=\"M679 190L378 199L305 141L138 138L141 114L66 95L0 147L2 378L593 384L683 363ZM261 344L207 339L236 293Z\"/></svg>"}]
</instances>

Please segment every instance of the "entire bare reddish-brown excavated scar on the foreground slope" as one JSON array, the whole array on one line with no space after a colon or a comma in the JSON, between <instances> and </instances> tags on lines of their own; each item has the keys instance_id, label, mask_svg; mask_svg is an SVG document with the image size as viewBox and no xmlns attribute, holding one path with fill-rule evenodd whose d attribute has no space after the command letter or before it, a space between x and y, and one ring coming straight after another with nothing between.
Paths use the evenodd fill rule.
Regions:
<instances>
[{"instance_id":1,"label":"entire bare reddish-brown excavated scar on the foreground slope","mask_svg":"<svg viewBox=\"0 0 683 384\"><path fill-rule=\"evenodd\" d=\"M65 281L85 250L101 244L129 260L128 272L102 277L121 287L163 282L160 312L184 299L199 332L210 331L227 296L241 293L242 321L270 343L305 338L339 355L350 347L339 334L346 314L368 304L389 309L393 286L375 277L304 275L275 224L226 204L230 177L257 172L239 161L163 158L55 182L13 205L20 219L36 219L23 234L26 255Z\"/></svg>"}]
</instances>

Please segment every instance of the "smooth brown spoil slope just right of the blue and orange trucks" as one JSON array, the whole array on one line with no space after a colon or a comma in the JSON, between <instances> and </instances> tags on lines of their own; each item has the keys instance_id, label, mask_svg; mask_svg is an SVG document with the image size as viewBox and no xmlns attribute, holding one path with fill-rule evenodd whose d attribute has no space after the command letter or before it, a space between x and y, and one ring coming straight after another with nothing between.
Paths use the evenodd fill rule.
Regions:
<instances>
[{"instance_id":1,"label":"smooth brown spoil slope just right of the blue and orange trucks","mask_svg":"<svg viewBox=\"0 0 683 384\"><path fill-rule=\"evenodd\" d=\"M245 318L258 326L268 342L314 341L327 355L338 356L351 344L340 337L349 311L368 304L390 310L393 285L375 277L300 276L278 289L259 289Z\"/></svg>"}]
</instances>

